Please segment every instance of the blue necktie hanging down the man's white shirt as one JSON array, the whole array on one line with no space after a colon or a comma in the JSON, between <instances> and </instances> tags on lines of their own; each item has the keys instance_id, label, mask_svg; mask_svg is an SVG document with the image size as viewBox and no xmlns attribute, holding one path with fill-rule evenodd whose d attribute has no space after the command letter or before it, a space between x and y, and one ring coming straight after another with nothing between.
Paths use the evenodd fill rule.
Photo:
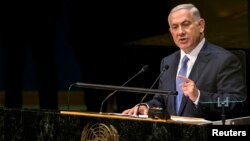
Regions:
<instances>
[{"instance_id":1,"label":"blue necktie hanging down the man's white shirt","mask_svg":"<svg viewBox=\"0 0 250 141\"><path fill-rule=\"evenodd\" d=\"M186 76L187 74L187 62L188 62L189 58L185 55L182 59L182 63L181 63L181 68L180 71L178 73L178 75L183 75ZM176 113L178 114L180 105L181 105L181 101L182 101L182 96L183 96L183 91L181 90L181 88L179 87L180 83L182 83L183 80L180 78L176 78L176 90L178 92L178 95L176 97Z\"/></svg>"}]
</instances>

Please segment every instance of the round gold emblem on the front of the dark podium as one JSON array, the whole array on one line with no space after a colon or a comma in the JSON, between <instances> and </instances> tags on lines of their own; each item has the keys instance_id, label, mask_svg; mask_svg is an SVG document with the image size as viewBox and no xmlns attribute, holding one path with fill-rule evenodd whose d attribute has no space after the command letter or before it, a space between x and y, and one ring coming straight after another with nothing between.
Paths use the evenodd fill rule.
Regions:
<instances>
[{"instance_id":1,"label":"round gold emblem on the front of the dark podium","mask_svg":"<svg viewBox=\"0 0 250 141\"><path fill-rule=\"evenodd\" d=\"M113 125L87 124L82 131L81 141L119 141L119 135Z\"/></svg>"}]
</instances>

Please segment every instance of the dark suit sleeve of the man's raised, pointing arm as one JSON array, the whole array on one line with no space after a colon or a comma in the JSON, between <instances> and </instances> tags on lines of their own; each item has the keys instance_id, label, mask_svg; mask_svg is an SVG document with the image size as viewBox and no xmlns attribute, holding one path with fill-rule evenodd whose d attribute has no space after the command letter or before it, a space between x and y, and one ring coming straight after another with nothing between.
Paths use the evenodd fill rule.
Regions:
<instances>
[{"instance_id":1,"label":"dark suit sleeve of the man's raised, pointing arm","mask_svg":"<svg viewBox=\"0 0 250 141\"><path fill-rule=\"evenodd\" d=\"M217 60L218 69L211 68L216 74L214 82L211 82L213 87L200 89L198 108L210 113L221 112L221 108L218 107L219 98L221 102L228 100L228 107L225 110L228 114L235 114L243 109L243 102L246 98L245 79L241 63L236 56L226 54L223 58Z\"/></svg>"}]
</instances>

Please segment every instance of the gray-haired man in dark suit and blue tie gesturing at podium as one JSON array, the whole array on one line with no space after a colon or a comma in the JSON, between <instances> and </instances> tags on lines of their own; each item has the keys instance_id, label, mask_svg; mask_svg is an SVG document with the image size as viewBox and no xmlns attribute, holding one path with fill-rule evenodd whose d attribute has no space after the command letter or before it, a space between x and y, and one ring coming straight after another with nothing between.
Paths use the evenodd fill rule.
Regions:
<instances>
[{"instance_id":1,"label":"gray-haired man in dark suit and blue tie gesturing at podium","mask_svg":"<svg viewBox=\"0 0 250 141\"><path fill-rule=\"evenodd\" d=\"M246 98L246 86L239 59L231 52L209 43L204 37L205 20L192 4L181 4L170 11L169 30L179 51L161 61L161 70L169 66L159 81L159 89L176 91L183 95L179 110L178 96L155 95L152 100L125 110L124 114L148 114L151 107L167 109L170 115L219 120L220 101L229 101L227 115L241 112ZM179 75L181 60L188 57L185 75ZM177 73L178 72L178 73ZM181 79L180 84L176 84Z\"/></svg>"}]
</instances>

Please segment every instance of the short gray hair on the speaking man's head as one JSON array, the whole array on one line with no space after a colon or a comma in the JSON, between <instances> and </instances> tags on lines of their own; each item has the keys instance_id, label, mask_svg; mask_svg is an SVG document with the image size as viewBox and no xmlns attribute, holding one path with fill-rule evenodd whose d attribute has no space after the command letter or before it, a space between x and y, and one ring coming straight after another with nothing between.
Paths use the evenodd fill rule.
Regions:
<instances>
[{"instance_id":1,"label":"short gray hair on the speaking man's head","mask_svg":"<svg viewBox=\"0 0 250 141\"><path fill-rule=\"evenodd\" d=\"M201 19L200 12L199 12L198 8L196 8L193 4L180 4L180 5L175 6L170 11L170 13L168 15L168 23L170 20L169 17L171 15L171 13L176 12L176 11L181 10L181 9L189 9L192 12L192 15L194 16L196 21Z\"/></svg>"}]
</instances>

